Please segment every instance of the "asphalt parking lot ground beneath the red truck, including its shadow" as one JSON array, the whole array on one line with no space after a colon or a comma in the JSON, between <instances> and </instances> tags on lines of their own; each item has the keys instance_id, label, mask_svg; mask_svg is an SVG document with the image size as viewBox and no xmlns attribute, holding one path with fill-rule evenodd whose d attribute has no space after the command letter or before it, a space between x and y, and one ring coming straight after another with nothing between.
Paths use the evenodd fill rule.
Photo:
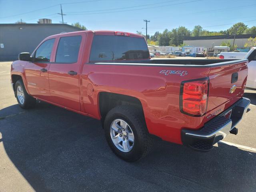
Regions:
<instances>
[{"instance_id":1,"label":"asphalt parking lot ground beneath the red truck, including its shadow","mask_svg":"<svg viewBox=\"0 0 256 192\"><path fill-rule=\"evenodd\" d=\"M22 110L0 62L0 191L256 191L256 91L250 112L208 153L157 141L128 163L108 148L98 120L38 102Z\"/></svg>"}]
</instances>

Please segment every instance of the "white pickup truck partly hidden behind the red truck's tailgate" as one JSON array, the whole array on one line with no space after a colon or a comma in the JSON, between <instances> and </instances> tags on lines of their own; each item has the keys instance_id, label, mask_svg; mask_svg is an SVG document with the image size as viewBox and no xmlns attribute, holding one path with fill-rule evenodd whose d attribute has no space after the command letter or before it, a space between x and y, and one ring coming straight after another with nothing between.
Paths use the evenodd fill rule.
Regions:
<instances>
[{"instance_id":1,"label":"white pickup truck partly hidden behind the red truck's tailgate","mask_svg":"<svg viewBox=\"0 0 256 192\"><path fill-rule=\"evenodd\" d=\"M221 52L220 59L248 59L248 76L246 88L256 89L256 47L246 52Z\"/></svg>"}]
</instances>

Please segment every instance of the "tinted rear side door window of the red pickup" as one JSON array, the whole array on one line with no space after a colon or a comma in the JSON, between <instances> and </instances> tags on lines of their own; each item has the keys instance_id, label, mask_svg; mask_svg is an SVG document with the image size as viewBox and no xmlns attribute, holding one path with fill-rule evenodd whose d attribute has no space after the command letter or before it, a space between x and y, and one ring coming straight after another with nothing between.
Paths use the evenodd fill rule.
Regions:
<instances>
[{"instance_id":1,"label":"tinted rear side door window of the red pickup","mask_svg":"<svg viewBox=\"0 0 256 192\"><path fill-rule=\"evenodd\" d=\"M78 59L82 36L68 36L60 38L56 59L57 63L75 63Z\"/></svg>"}]
</instances>

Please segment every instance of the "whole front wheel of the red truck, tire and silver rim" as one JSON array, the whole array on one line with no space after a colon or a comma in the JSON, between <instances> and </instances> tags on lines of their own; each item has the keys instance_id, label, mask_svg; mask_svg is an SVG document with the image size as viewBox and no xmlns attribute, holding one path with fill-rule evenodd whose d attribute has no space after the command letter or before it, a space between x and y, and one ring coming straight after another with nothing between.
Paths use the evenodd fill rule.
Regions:
<instances>
[{"instance_id":1,"label":"whole front wheel of the red truck, tire and silver rim","mask_svg":"<svg viewBox=\"0 0 256 192\"><path fill-rule=\"evenodd\" d=\"M36 105L36 99L26 92L22 80L18 80L15 83L15 96L19 106L23 109L32 108Z\"/></svg>"}]
</instances>

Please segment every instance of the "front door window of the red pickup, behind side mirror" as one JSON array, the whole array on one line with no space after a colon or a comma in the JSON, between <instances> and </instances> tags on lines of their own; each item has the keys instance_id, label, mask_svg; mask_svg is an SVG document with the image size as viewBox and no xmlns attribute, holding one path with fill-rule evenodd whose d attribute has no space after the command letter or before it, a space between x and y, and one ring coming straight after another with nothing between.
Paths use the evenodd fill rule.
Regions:
<instances>
[{"instance_id":1,"label":"front door window of the red pickup, behind side mirror","mask_svg":"<svg viewBox=\"0 0 256 192\"><path fill-rule=\"evenodd\" d=\"M55 39L46 40L38 47L35 56L36 62L50 62L54 41Z\"/></svg>"}]
</instances>

